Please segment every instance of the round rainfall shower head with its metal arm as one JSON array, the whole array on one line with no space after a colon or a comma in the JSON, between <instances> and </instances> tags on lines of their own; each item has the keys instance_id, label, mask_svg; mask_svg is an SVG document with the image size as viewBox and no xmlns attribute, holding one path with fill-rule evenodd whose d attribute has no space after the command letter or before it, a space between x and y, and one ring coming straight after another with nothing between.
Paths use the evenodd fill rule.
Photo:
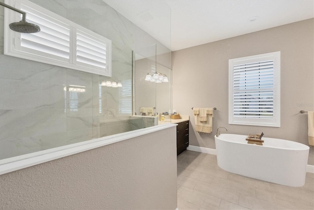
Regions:
<instances>
[{"instance_id":1,"label":"round rainfall shower head with its metal arm","mask_svg":"<svg viewBox=\"0 0 314 210\"><path fill-rule=\"evenodd\" d=\"M4 6L4 7L7 7L9 9L12 9L16 12L19 12L23 15L22 17L22 21L20 22L17 22L17 23L11 23L9 25L10 29L11 30L14 30L16 32L20 32L20 33L36 33L36 32L39 32L40 31L40 27L35 25L35 24L31 24L31 23L27 23L26 22L26 13L19 10L19 9L16 9L12 6L9 6L5 3L2 3L0 2L0 5Z\"/></svg>"}]
</instances>

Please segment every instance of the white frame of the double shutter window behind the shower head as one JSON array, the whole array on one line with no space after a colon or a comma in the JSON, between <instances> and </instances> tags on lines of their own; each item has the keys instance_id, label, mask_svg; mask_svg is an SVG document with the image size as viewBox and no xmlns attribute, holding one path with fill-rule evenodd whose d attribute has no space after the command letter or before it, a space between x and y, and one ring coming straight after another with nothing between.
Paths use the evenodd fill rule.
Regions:
<instances>
[{"instance_id":1,"label":"white frame of the double shutter window behind the shower head","mask_svg":"<svg viewBox=\"0 0 314 210\"><path fill-rule=\"evenodd\" d=\"M61 17L52 11L45 9L31 1L28 0L5 0L5 3L13 6L17 9L23 11L22 4L26 7L29 7L31 10L36 11L37 15L41 18L48 18L50 20L55 20L56 22L60 22L66 26L69 26L70 29L70 41L69 41L69 48L70 54L69 59L66 58L57 58L53 55L45 55L42 52L36 53L23 51L21 49L21 33L15 32L9 28L9 24L13 22L19 22L21 20L21 14L14 12L8 8L4 8L4 54L15 56L19 58L24 58L28 60L33 60L37 62L52 64L55 66L61 66L65 68L75 69L83 72L88 72L92 74L103 75L106 77L111 77L111 40L85 28L82 27L68 19ZM27 20L27 11L26 11L26 21ZM36 23L35 23L36 24ZM105 43L106 45L106 64L105 68L101 68L94 65L84 64L78 62L76 59L77 55L77 33L81 31L85 34L88 34L93 41L98 41L100 43ZM40 32L39 32L40 33Z\"/></svg>"}]
</instances>

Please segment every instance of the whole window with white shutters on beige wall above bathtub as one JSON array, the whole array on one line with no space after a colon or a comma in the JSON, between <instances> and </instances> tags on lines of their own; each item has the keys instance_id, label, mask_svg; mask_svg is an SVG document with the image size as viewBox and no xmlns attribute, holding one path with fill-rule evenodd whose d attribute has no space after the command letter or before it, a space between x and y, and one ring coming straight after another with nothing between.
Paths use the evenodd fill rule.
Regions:
<instances>
[{"instance_id":1,"label":"whole window with white shutters on beige wall above bathtub","mask_svg":"<svg viewBox=\"0 0 314 210\"><path fill-rule=\"evenodd\" d=\"M229 60L229 124L280 127L280 52Z\"/></svg>"}]
</instances>

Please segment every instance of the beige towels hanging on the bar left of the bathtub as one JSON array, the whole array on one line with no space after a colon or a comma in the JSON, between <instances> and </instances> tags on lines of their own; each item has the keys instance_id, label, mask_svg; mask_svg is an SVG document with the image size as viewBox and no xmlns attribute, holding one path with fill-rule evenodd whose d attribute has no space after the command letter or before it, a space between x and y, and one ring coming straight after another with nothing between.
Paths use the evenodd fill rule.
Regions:
<instances>
[{"instance_id":1,"label":"beige towels hanging on the bar left of the bathtub","mask_svg":"<svg viewBox=\"0 0 314 210\"><path fill-rule=\"evenodd\" d=\"M212 118L213 118L213 112L212 108L204 108L206 113L206 121L200 121L199 115L200 110L202 108L193 108L193 114L194 114L194 120L195 120L195 130L198 132L206 132L211 133L212 131Z\"/></svg>"}]
</instances>

